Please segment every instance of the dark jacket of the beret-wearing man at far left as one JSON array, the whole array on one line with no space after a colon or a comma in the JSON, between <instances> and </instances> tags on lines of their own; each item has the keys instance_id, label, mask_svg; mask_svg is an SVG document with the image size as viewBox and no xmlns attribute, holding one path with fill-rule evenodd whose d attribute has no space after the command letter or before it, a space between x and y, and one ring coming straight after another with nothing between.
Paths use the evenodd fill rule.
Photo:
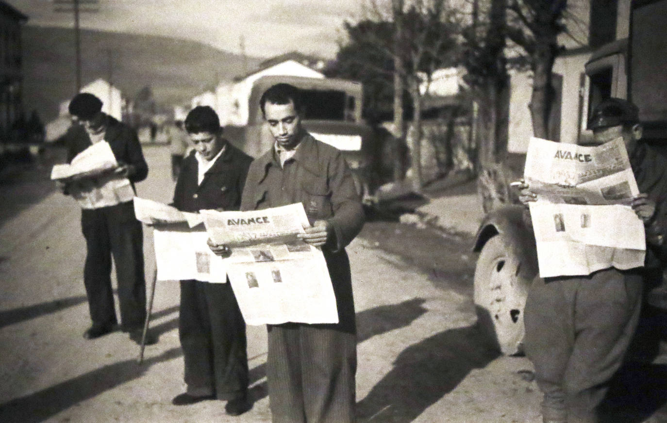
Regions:
<instances>
[{"instance_id":1,"label":"dark jacket of the beret-wearing man at far left","mask_svg":"<svg viewBox=\"0 0 667 423\"><path fill-rule=\"evenodd\" d=\"M146 179L148 175L148 165L141 153L141 144L137 133L117 121L115 118L105 115L107 119L107 129L104 140L109 143L113 155L119 164L133 165L134 172L128 176L131 183L137 183ZM92 145L88 133L81 125L72 125L65 135L65 145L67 146L67 163L74 157Z\"/></svg>"}]
</instances>

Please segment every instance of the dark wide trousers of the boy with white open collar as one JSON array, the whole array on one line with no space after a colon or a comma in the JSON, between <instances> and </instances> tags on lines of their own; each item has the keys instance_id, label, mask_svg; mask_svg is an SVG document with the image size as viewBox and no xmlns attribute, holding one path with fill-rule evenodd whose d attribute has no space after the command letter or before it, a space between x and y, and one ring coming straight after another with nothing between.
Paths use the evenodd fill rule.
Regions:
<instances>
[{"instance_id":1,"label":"dark wide trousers of the boy with white open collar","mask_svg":"<svg viewBox=\"0 0 667 423\"><path fill-rule=\"evenodd\" d=\"M245 394L245 321L229 281L181 280L178 333L188 394L219 400Z\"/></svg>"}]
</instances>

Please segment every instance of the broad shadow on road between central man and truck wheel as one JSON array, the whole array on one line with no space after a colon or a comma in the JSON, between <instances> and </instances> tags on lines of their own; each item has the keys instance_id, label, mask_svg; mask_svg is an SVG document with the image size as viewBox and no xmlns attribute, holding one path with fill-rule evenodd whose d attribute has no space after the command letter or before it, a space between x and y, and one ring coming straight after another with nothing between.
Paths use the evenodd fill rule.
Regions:
<instances>
[{"instance_id":1,"label":"broad shadow on road between central man and truck wheel","mask_svg":"<svg viewBox=\"0 0 667 423\"><path fill-rule=\"evenodd\" d=\"M497 356L484 348L474 326L440 332L401 352L394 368L358 402L357 415L362 422L412 422L470 370Z\"/></svg>"}]
</instances>

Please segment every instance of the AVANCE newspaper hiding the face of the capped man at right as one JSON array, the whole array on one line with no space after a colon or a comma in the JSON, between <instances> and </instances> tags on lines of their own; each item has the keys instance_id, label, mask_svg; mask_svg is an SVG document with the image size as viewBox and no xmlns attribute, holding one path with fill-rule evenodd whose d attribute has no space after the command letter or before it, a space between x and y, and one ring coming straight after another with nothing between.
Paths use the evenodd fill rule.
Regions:
<instances>
[{"instance_id":1,"label":"AVANCE newspaper hiding the face of the capped man at right","mask_svg":"<svg viewBox=\"0 0 667 423\"><path fill-rule=\"evenodd\" d=\"M621 138L596 147L532 138L524 179L540 276L644 265L644 224L629 206L639 189Z\"/></svg>"}]
</instances>

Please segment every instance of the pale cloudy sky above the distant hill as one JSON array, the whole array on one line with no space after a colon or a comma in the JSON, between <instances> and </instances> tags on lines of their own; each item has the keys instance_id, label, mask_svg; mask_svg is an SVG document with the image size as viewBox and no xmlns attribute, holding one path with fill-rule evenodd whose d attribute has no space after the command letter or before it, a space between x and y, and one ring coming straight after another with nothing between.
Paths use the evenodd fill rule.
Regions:
<instances>
[{"instance_id":1,"label":"pale cloudy sky above the distant hill","mask_svg":"<svg viewBox=\"0 0 667 423\"><path fill-rule=\"evenodd\" d=\"M73 13L53 0L5 0L27 15L27 25L73 27ZM84 1L84 0L81 0ZM362 17L365 0L97 0L81 13L86 29L165 35L201 41L232 53L273 57L301 51L333 59L343 22Z\"/></svg>"}]
</instances>

